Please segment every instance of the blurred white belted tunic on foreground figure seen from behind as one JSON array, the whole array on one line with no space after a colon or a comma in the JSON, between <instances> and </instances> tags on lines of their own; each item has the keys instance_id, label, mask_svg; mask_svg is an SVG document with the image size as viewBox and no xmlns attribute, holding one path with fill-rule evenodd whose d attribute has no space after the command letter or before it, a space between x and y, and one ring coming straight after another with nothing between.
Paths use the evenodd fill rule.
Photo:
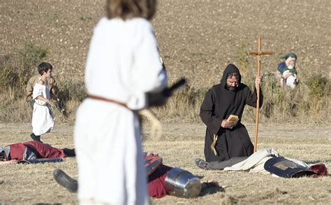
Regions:
<instances>
[{"instance_id":1,"label":"blurred white belted tunic on foreground figure seen from behind","mask_svg":"<svg viewBox=\"0 0 331 205\"><path fill-rule=\"evenodd\" d=\"M167 83L150 22L102 18L91 38L85 83L89 94L133 110L147 107L146 92ZM148 204L140 125L133 111L84 100L75 122L75 148L80 202Z\"/></svg>"}]
</instances>

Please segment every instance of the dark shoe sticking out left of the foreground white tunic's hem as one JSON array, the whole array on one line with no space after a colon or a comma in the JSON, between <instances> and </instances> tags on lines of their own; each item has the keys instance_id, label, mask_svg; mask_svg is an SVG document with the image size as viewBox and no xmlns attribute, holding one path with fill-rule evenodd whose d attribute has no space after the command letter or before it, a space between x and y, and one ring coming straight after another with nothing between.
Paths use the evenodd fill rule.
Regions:
<instances>
[{"instance_id":1,"label":"dark shoe sticking out left of the foreground white tunic's hem","mask_svg":"<svg viewBox=\"0 0 331 205\"><path fill-rule=\"evenodd\" d=\"M69 192L75 193L78 191L78 181L74 180L70 176L68 176L61 169L54 169L53 176L55 181Z\"/></svg>"}]
</instances>

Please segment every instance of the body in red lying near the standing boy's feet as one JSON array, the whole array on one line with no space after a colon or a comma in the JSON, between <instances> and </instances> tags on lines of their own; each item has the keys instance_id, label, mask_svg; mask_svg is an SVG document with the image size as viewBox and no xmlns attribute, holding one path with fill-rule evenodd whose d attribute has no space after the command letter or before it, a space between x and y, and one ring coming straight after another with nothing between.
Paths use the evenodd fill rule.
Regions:
<instances>
[{"instance_id":1,"label":"body in red lying near the standing boy's feet","mask_svg":"<svg viewBox=\"0 0 331 205\"><path fill-rule=\"evenodd\" d=\"M0 146L0 164L16 164L21 160L35 160L41 158L75 157L75 149L53 148L47 143L27 141Z\"/></svg>"}]
</instances>

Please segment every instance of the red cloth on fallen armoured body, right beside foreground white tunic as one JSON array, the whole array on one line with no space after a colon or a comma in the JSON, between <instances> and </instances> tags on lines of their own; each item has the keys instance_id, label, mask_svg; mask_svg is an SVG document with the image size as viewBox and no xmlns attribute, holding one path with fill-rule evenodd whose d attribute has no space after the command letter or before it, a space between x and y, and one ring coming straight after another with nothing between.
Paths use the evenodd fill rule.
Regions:
<instances>
[{"instance_id":1,"label":"red cloth on fallen armoured body, right beside foreground white tunic","mask_svg":"<svg viewBox=\"0 0 331 205\"><path fill-rule=\"evenodd\" d=\"M161 198L168 195L165 190L165 177L172 167L160 165L151 175L148 176L148 192L150 197Z\"/></svg>"}]
</instances>

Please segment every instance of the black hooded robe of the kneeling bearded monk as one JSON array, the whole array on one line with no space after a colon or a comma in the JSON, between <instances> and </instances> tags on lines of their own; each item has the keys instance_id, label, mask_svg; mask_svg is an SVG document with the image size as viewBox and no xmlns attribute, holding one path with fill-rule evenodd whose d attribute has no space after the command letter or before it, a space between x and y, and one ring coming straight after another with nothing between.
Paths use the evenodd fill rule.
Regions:
<instances>
[{"instance_id":1,"label":"black hooded robe of the kneeling bearded monk","mask_svg":"<svg viewBox=\"0 0 331 205\"><path fill-rule=\"evenodd\" d=\"M242 125L241 118L244 106L256 107L256 88L253 93L247 85L241 83L235 90L226 88L226 76L228 73L238 72L239 69L228 64L223 72L221 83L214 85L205 95L205 99L200 108L200 118L207 125L205 136L205 159L207 162L224 161L231 157L247 157L253 154L253 144L249 139L246 127ZM263 104L263 94L260 90L260 106ZM237 115L239 121L232 129L221 127L221 122L229 117ZM212 151L214 134L219 136L216 143L217 155Z\"/></svg>"}]
</instances>

